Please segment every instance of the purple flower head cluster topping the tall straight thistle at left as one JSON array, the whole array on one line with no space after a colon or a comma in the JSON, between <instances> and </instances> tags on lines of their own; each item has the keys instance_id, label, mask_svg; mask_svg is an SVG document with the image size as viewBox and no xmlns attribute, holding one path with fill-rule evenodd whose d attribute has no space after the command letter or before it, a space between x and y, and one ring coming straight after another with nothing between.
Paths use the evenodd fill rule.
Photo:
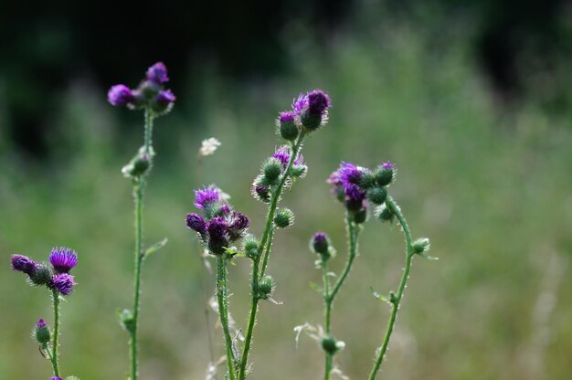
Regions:
<instances>
[{"instance_id":1,"label":"purple flower head cluster topping the tall straight thistle at left","mask_svg":"<svg viewBox=\"0 0 572 380\"><path fill-rule=\"evenodd\" d=\"M114 106L131 110L148 109L155 116L159 116L171 111L175 103L173 92L164 90L164 84L168 81L164 63L157 62L147 69L146 78L137 89L132 90L124 84L116 84L107 93L107 99Z\"/></svg>"}]
</instances>

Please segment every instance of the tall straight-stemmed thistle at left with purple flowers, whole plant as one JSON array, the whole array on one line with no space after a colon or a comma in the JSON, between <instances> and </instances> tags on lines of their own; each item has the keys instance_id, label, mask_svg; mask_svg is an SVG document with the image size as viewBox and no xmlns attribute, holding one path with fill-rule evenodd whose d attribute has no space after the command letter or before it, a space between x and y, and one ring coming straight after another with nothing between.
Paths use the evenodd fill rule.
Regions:
<instances>
[{"instance_id":1,"label":"tall straight-stemmed thistle at left with purple flowers, whole plant","mask_svg":"<svg viewBox=\"0 0 572 380\"><path fill-rule=\"evenodd\" d=\"M136 89L124 84L117 84L108 91L107 98L111 105L127 107L130 110L142 110L144 113L143 146L132 160L123 166L122 174L131 179L135 206L135 249L133 270L133 303L132 309L118 311L122 327L129 333L131 380L139 375L138 361L138 328L139 311L141 309L141 274L143 262L154 251L166 244L166 238L149 248L143 248L143 196L149 173L153 167L153 127L154 120L173 109L175 95L164 89L169 81L167 69L163 62L157 62L147 69L145 79Z\"/></svg>"}]
</instances>

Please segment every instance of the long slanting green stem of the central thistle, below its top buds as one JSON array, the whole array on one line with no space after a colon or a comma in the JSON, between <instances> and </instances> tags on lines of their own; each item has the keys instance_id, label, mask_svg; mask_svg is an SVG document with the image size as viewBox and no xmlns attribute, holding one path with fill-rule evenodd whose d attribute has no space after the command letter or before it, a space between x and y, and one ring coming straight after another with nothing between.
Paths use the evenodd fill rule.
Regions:
<instances>
[{"instance_id":1,"label":"long slanting green stem of the central thistle, below its top buds","mask_svg":"<svg viewBox=\"0 0 572 380\"><path fill-rule=\"evenodd\" d=\"M284 184L286 184L286 180L290 176L290 171L296 156L301 150L302 147L302 140L304 138L305 133L301 132L300 136L298 136L298 140L292 146L292 152L290 156L290 161L286 166L286 170L284 170L284 174L281 176L280 183L276 186L276 190L272 192L272 198L270 199L270 206L268 209L268 214L266 216L266 224L264 225L264 229L262 231L262 237L260 237L260 242L258 246L258 251L260 252L259 256L256 259L252 260L252 280L251 280L251 299L250 299L250 312L249 312L249 326L247 328L247 334L244 342L244 350L242 351L242 355L240 357L240 369L238 371L238 380L244 380L246 378L246 369L249 360L249 351L250 351L250 343L252 342L252 332L254 331L254 324L256 322L256 314L258 311L259 305L259 267L260 267L260 258L261 254L264 254L266 262L268 262L268 256L270 255L270 246L271 246L271 230L272 224L274 223L274 214L276 213L276 207L278 206L278 202L280 200L280 195L282 193L282 189L284 188ZM267 248L267 243L270 240L270 244ZM263 251L264 249L264 251ZM267 253L268 252L268 253ZM265 269L265 268L264 268Z\"/></svg>"}]
</instances>

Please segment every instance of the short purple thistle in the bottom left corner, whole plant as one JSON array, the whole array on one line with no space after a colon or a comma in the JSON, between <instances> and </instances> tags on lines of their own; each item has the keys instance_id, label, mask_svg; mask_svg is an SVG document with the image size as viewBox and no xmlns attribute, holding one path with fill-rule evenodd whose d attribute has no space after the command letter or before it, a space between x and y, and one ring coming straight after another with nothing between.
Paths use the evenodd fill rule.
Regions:
<instances>
[{"instance_id":1,"label":"short purple thistle in the bottom left corner, whole plant","mask_svg":"<svg viewBox=\"0 0 572 380\"><path fill-rule=\"evenodd\" d=\"M54 311L54 330L49 329L48 323L40 318L32 331L32 337L39 344L39 353L52 364L52 379L60 379L58 360L59 328L60 328L60 302L69 296L76 282L69 271L78 264L78 254L70 248L52 248L48 263L37 263L24 255L12 255L12 269L26 274L27 281L35 287L46 287L51 293ZM72 380L69 376L66 380ZM63 379L62 379L63 380Z\"/></svg>"}]
</instances>

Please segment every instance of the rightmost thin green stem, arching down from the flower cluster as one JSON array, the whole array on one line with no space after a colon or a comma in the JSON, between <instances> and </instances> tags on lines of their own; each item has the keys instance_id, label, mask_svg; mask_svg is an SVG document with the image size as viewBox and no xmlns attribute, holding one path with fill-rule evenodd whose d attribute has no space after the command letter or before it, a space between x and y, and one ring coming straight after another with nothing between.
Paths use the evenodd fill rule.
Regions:
<instances>
[{"instance_id":1,"label":"rightmost thin green stem, arching down from the flower cluster","mask_svg":"<svg viewBox=\"0 0 572 380\"><path fill-rule=\"evenodd\" d=\"M379 349L379 354L377 354L376 363L374 364L374 367L369 374L369 380L374 380L376 378L379 367L381 366L381 363L383 362L384 356L387 352L387 346L389 345L389 339L391 338L391 333L393 332L393 328L396 324L397 311L399 311L399 304L403 299L403 293L405 292L405 288L408 283L409 271L411 270L411 263L414 256L411 231L409 230L408 222L405 220L405 217L401 213L399 206L397 206L395 201L390 196L387 196L386 205L390 207L391 211L393 211L395 216L397 216L397 220L403 228L403 234L405 235L406 242L406 260L405 268L403 269L403 274L401 275L401 281L399 282L399 287L397 288L397 294L392 296L389 300L391 302L391 316L389 317L389 322L387 322L386 335L384 336L383 343Z\"/></svg>"}]
</instances>

